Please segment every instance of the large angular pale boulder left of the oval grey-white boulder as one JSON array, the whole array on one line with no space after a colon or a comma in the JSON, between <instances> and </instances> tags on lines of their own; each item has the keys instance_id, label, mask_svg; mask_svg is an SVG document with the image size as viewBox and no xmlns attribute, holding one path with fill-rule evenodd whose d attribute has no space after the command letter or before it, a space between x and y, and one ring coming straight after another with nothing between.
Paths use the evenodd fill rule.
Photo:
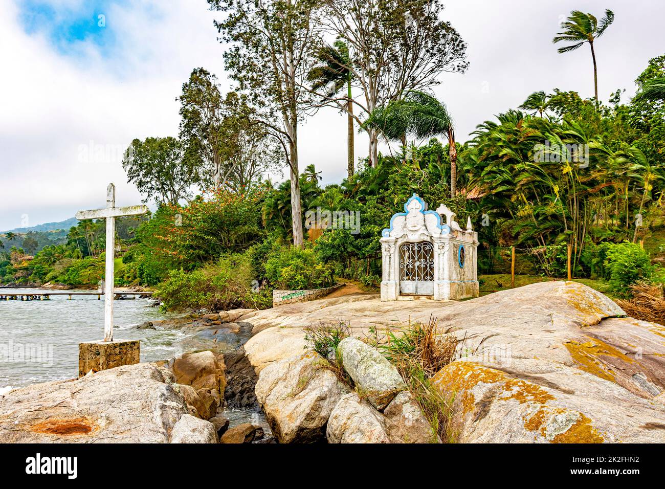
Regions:
<instances>
[{"instance_id":1,"label":"large angular pale boulder left of the oval grey-white boulder","mask_svg":"<svg viewBox=\"0 0 665 489\"><path fill-rule=\"evenodd\" d=\"M317 442L332 408L347 392L327 360L314 351L271 363L261 371L256 397L280 443Z\"/></svg>"}]
</instances>

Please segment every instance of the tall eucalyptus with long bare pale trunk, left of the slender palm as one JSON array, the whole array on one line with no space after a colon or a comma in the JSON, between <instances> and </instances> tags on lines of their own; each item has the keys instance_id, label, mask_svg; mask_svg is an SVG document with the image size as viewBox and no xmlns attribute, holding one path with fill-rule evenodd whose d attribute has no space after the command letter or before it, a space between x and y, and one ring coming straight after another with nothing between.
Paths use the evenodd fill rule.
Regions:
<instances>
[{"instance_id":1,"label":"tall eucalyptus with long bare pale trunk, left of the slender palm","mask_svg":"<svg viewBox=\"0 0 665 489\"><path fill-rule=\"evenodd\" d=\"M305 88L321 47L315 0L208 0L228 48L225 69L281 145L291 176L293 244L303 246L298 126L312 106Z\"/></svg>"}]
</instances>

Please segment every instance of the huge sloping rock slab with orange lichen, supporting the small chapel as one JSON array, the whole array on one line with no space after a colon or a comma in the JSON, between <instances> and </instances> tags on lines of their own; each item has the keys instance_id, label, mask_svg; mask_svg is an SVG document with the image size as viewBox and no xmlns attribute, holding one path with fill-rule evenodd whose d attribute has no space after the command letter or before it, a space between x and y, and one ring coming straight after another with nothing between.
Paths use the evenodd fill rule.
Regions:
<instances>
[{"instance_id":1,"label":"huge sloping rock slab with orange lichen, supporting the small chapel","mask_svg":"<svg viewBox=\"0 0 665 489\"><path fill-rule=\"evenodd\" d=\"M331 318L362 335L369 325L379 331L396 330L398 325L426 322L432 316L438 319L441 333L460 340L456 362L439 379L442 393L451 399L458 390L454 398L458 426L453 431L460 440L579 439L579 434L573 438L556 434L565 428L562 419L577 416L573 426L591 424L605 441L665 442L665 430L657 428L665 419L665 327L625 317L608 297L576 282L544 281L463 302L381 302L356 296L258 311L248 320L253 331L260 332L247 343L247 359L260 371L295 355L305 345L303 328ZM481 368L491 373L486 379L499 375L508 380L482 381L476 371ZM462 377L444 375L446 371L459 371ZM513 389L518 381L526 392L546 392L555 399L547 401L543 410L526 393L517 395L526 399L522 403L507 399L503 386ZM537 418L532 410L540 413ZM546 426L545 434L540 428L535 433L525 428L522 416L533 418L529 426ZM539 424L545 416L547 420ZM503 419L511 427L502 430ZM566 433L569 430L559 434Z\"/></svg>"}]
</instances>

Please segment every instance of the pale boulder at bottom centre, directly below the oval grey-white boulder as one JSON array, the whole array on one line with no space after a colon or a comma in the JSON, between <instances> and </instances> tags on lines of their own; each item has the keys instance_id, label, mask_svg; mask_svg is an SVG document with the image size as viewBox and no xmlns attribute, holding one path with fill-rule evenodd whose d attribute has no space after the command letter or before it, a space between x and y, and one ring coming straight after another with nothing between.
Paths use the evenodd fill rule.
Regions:
<instances>
[{"instance_id":1,"label":"pale boulder at bottom centre, directly below the oval grey-white boulder","mask_svg":"<svg viewBox=\"0 0 665 489\"><path fill-rule=\"evenodd\" d=\"M384 416L357 393L348 393L331 412L326 430L329 443L390 443Z\"/></svg>"}]
</instances>

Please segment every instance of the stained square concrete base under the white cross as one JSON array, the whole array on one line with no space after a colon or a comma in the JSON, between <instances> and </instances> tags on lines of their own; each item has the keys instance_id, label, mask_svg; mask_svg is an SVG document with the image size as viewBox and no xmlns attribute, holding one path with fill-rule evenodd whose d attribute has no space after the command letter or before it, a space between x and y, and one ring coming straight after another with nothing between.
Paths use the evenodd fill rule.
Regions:
<instances>
[{"instance_id":1,"label":"stained square concrete base under the white cross","mask_svg":"<svg viewBox=\"0 0 665 489\"><path fill-rule=\"evenodd\" d=\"M140 342L91 341L78 343L78 377L92 371L139 363Z\"/></svg>"}]
</instances>

